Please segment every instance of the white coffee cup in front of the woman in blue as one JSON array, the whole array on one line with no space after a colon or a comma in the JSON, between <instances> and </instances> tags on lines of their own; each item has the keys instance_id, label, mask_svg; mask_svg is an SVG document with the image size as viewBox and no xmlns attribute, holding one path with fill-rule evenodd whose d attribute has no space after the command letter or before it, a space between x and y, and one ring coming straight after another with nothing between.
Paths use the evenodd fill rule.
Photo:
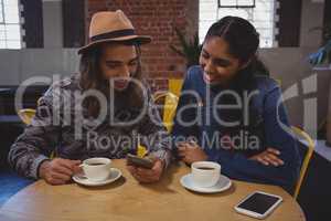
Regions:
<instances>
[{"instance_id":1,"label":"white coffee cup in front of the woman in blue","mask_svg":"<svg viewBox=\"0 0 331 221\"><path fill-rule=\"evenodd\" d=\"M192 179L197 187L212 187L221 176L221 165L212 161L196 161L191 165Z\"/></svg>"}]
</instances>

